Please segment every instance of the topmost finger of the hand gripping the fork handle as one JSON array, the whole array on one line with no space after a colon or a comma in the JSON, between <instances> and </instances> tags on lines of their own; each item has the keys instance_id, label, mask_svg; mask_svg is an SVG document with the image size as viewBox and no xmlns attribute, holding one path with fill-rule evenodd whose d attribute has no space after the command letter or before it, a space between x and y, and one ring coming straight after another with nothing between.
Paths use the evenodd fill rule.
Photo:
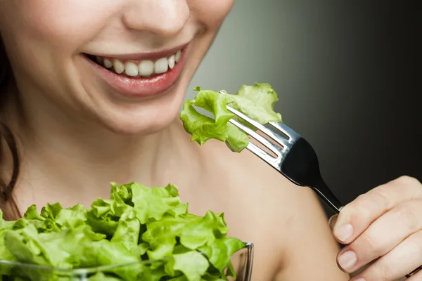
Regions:
<instances>
[{"instance_id":1,"label":"topmost finger of the hand gripping the fork handle","mask_svg":"<svg viewBox=\"0 0 422 281\"><path fill-rule=\"evenodd\" d=\"M350 244L385 212L415 199L422 199L422 185L408 176L374 188L340 211L333 230L334 236L338 242Z\"/></svg>"}]
</instances>

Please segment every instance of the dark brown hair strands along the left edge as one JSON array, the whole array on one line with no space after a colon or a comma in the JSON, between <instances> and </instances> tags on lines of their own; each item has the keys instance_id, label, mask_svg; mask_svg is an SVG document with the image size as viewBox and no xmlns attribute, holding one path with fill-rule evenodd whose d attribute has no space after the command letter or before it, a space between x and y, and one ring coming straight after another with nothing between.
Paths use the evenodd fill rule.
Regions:
<instances>
[{"instance_id":1,"label":"dark brown hair strands along the left edge","mask_svg":"<svg viewBox=\"0 0 422 281\"><path fill-rule=\"evenodd\" d=\"M0 38L0 110L6 100L6 88L11 83L12 79L13 75L11 66L8 62L6 51L4 50L3 42ZM0 209L4 212L4 219L11 220L20 216L18 207L15 204L12 195L13 188L18 180L20 164L18 148L13 133L7 124L0 118L0 166L4 166L1 162L4 161L5 158L5 149L10 150L11 152L13 171L9 181L2 178L4 175L0 174Z\"/></svg>"}]
</instances>

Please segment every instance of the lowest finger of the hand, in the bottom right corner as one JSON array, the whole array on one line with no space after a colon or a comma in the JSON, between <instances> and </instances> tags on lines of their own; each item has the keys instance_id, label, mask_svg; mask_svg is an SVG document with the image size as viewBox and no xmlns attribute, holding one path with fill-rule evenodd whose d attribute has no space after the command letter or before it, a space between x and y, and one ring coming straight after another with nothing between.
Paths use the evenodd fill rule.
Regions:
<instances>
[{"instance_id":1,"label":"lowest finger of the hand, in the bottom right corner","mask_svg":"<svg viewBox=\"0 0 422 281\"><path fill-rule=\"evenodd\" d=\"M419 231L407 237L406 240L352 280L363 278L365 281L394 281L407 275L421 264L422 231ZM416 273L414 276L418 274Z\"/></svg>"}]
</instances>

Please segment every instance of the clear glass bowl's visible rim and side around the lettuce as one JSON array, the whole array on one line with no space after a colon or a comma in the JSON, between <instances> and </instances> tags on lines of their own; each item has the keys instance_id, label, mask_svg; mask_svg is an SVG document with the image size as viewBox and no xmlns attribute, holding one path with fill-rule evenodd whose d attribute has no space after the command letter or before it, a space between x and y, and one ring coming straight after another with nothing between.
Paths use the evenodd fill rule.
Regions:
<instances>
[{"instance_id":1,"label":"clear glass bowl's visible rim and side around the lettuce","mask_svg":"<svg viewBox=\"0 0 422 281\"><path fill-rule=\"evenodd\" d=\"M57 269L47 266L36 266L27 263L11 263L0 260L1 281L159 281L154 277L155 270L171 261L172 258L157 261L141 261L136 263L101 266L97 268ZM230 281L250 281L252 276L253 244L237 251L232 257L236 279ZM146 270L148 268L148 270ZM155 268L155 270L154 270ZM112 277L113 276L113 277ZM167 280L167 279L166 279ZM186 281L179 277L174 281ZM196 280L195 280L196 281Z\"/></svg>"}]
</instances>

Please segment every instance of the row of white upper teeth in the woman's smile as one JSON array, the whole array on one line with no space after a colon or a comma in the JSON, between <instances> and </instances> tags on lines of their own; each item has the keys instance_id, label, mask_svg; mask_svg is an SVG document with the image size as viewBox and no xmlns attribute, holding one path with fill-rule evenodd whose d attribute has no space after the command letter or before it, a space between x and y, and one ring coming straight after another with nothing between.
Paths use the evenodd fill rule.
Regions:
<instances>
[{"instance_id":1,"label":"row of white upper teeth in the woman's smile","mask_svg":"<svg viewBox=\"0 0 422 281\"><path fill-rule=\"evenodd\" d=\"M141 60L136 63L134 61L128 61L123 63L116 58L101 58L96 57L98 63L104 65L107 68L112 68L118 74L124 72L127 76L136 77L150 77L152 74L161 74L167 72L167 70L172 69L175 63L179 63L181 56L181 51L170 55L168 58L160 58L158 60Z\"/></svg>"}]
</instances>

